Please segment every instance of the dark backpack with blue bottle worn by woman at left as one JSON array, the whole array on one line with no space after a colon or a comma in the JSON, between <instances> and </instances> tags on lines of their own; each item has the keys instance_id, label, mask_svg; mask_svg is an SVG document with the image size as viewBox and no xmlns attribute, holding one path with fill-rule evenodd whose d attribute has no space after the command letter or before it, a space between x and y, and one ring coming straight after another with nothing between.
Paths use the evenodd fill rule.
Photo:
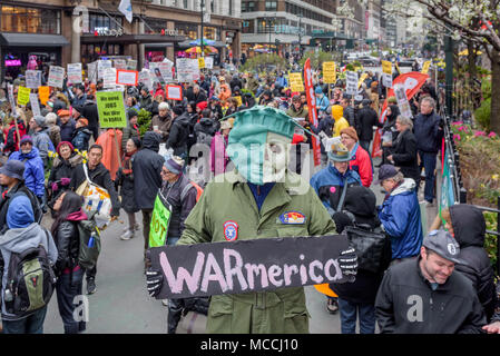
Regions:
<instances>
[{"instance_id":1,"label":"dark backpack with blue bottle worn by woman at left","mask_svg":"<svg viewBox=\"0 0 500 356\"><path fill-rule=\"evenodd\" d=\"M94 215L90 214L88 220L79 221L77 225L80 236L78 265L85 269L92 269L100 254L100 234L92 219Z\"/></svg>"}]
</instances>

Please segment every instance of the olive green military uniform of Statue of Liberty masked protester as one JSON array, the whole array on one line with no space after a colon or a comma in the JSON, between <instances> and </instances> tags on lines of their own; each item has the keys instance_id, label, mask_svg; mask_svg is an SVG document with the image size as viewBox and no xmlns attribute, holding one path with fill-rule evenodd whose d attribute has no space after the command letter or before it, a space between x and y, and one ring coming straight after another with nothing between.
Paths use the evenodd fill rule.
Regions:
<instances>
[{"instance_id":1,"label":"olive green military uniform of Statue of Liberty masked protester","mask_svg":"<svg viewBox=\"0 0 500 356\"><path fill-rule=\"evenodd\" d=\"M304 224L282 224L280 216L287 211L301 212ZM261 211L236 171L227 174L223 182L210 181L187 217L177 244L226 241L227 221L237 224L236 240L336 234L335 222L314 189L295 174L288 174L285 182L276 182ZM303 287L216 295L210 300L207 333L308 333L308 317Z\"/></svg>"}]
</instances>

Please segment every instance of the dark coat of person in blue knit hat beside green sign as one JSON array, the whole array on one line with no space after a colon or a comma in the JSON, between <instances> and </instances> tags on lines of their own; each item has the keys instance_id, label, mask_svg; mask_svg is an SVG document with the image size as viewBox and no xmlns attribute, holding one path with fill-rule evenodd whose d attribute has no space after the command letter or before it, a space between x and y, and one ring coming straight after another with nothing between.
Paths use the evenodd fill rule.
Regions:
<instances>
[{"instance_id":1,"label":"dark coat of person in blue knit hat beside green sign","mask_svg":"<svg viewBox=\"0 0 500 356\"><path fill-rule=\"evenodd\" d=\"M186 188L186 186L188 186L188 188ZM177 181L173 185L164 182L161 195L166 198L167 202L171 207L167 238L180 237L185 228L184 221L196 204L197 190L189 182L189 178L180 175Z\"/></svg>"}]
</instances>

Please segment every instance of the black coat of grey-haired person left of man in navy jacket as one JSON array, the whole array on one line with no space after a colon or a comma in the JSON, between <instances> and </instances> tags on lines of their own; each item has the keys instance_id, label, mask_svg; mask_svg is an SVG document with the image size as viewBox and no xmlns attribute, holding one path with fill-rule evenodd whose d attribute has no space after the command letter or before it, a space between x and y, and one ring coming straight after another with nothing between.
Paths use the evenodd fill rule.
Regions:
<instances>
[{"instance_id":1,"label":"black coat of grey-haired person left of man in navy jacket","mask_svg":"<svg viewBox=\"0 0 500 356\"><path fill-rule=\"evenodd\" d=\"M420 171L416 160L416 139L413 132L408 129L398 135L392 144L390 152L394 160L394 166L400 167L400 171L405 178L411 178L415 182L420 181Z\"/></svg>"}]
</instances>

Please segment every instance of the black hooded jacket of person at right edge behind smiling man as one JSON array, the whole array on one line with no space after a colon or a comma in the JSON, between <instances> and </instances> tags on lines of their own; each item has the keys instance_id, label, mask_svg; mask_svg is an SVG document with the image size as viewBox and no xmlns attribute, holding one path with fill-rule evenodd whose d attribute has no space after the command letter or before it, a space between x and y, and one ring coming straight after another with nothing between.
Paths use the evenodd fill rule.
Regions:
<instances>
[{"instance_id":1,"label":"black hooded jacket of person at right edge behind smiling man","mask_svg":"<svg viewBox=\"0 0 500 356\"><path fill-rule=\"evenodd\" d=\"M473 206L459 204L450 207L454 238L460 245L459 258L467 264L458 264L455 269L472 281L488 320L494 313L497 293L494 273L484 250L486 221L482 211Z\"/></svg>"}]
</instances>

